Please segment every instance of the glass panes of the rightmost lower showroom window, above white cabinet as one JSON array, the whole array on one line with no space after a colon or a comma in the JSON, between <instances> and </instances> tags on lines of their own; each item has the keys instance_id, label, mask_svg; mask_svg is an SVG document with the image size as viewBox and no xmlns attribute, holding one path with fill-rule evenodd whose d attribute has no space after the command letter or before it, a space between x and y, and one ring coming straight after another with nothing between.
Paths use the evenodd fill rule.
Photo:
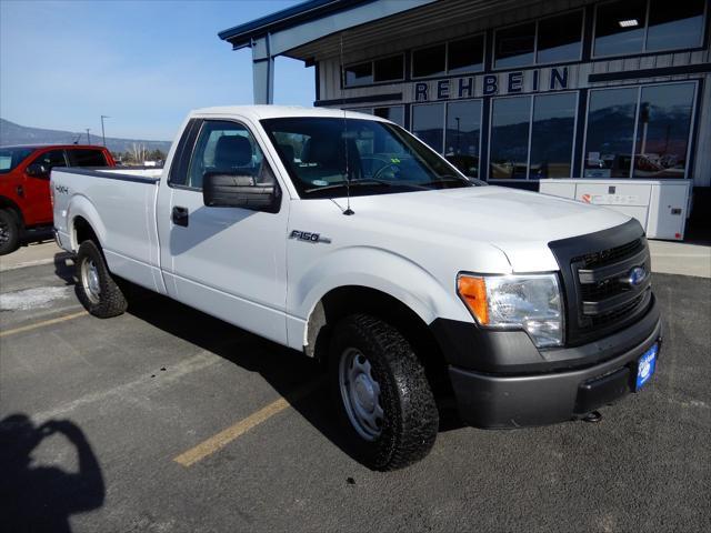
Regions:
<instances>
[{"instance_id":1,"label":"glass panes of the rightmost lower showroom window, above white cabinet","mask_svg":"<svg viewBox=\"0 0 711 533\"><path fill-rule=\"evenodd\" d=\"M685 178L695 82L590 92L585 178Z\"/></svg>"}]
</instances>

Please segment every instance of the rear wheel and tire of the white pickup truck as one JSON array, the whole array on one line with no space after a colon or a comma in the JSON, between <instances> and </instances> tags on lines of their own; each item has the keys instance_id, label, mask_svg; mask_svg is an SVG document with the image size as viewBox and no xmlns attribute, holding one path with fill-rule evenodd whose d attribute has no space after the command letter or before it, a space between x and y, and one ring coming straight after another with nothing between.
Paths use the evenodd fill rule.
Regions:
<instances>
[{"instance_id":1,"label":"rear wheel and tire of the white pickup truck","mask_svg":"<svg viewBox=\"0 0 711 533\"><path fill-rule=\"evenodd\" d=\"M93 241L84 241L77 252L77 295L90 314L109 319L128 308L123 292L116 283L103 254Z\"/></svg>"}]
</instances>

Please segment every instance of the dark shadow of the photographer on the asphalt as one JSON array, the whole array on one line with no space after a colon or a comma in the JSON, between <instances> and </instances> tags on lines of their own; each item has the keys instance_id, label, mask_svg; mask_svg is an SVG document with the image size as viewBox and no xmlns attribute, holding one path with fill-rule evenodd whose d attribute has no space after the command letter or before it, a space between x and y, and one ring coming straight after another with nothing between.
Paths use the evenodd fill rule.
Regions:
<instances>
[{"instance_id":1,"label":"dark shadow of the photographer on the asphalt","mask_svg":"<svg viewBox=\"0 0 711 533\"><path fill-rule=\"evenodd\" d=\"M77 453L77 472L33 464L32 452L53 434L63 435ZM99 461L73 422L36 425L26 414L0 420L0 521L4 531L70 532L69 516L99 509L106 489Z\"/></svg>"}]
</instances>

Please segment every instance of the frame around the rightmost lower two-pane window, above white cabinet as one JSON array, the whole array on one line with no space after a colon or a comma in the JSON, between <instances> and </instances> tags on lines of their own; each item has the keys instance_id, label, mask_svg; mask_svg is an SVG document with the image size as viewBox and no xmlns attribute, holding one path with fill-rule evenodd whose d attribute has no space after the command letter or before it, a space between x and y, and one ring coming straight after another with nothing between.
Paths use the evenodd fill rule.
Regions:
<instances>
[{"instance_id":1,"label":"frame around the rightmost lower two-pane window, above white cabinet","mask_svg":"<svg viewBox=\"0 0 711 533\"><path fill-rule=\"evenodd\" d=\"M658 81L658 82L649 82L649 83L627 83L622 86L612 86L612 87L597 87L594 89L590 89L588 91L588 100L585 101L585 124L582 133L582 158L580 158L580 177L584 177L585 171L585 152L588 148L588 125L590 122L590 98L593 91L605 91L605 90L614 90L614 89L637 89L637 104L634 108L634 128L632 133L632 152L637 149L637 133L640 121L640 103L642 99L642 89L645 87L659 87L659 86L679 86L684 83L693 84L693 97L691 101L691 117L689 119L689 135L687 137L687 167L684 168L684 177L681 180L691 180L691 159L692 159L692 141L693 133L697 124L697 112L699 107L699 80L698 79L689 79L689 80L678 80L678 81ZM631 153L632 158L634 158L634 153ZM592 178L590 178L592 179ZM601 180L649 180L653 178L643 178L643 177L634 177L634 159L632 159L632 163L630 164L629 175L622 178L600 178ZM679 178L660 178L660 179L672 179L679 180Z\"/></svg>"}]
</instances>

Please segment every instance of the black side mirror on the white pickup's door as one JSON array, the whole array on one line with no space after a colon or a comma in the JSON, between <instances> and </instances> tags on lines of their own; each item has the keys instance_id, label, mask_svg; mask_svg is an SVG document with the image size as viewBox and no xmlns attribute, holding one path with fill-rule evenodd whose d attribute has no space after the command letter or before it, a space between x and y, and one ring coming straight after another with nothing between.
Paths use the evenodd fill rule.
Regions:
<instances>
[{"instance_id":1,"label":"black side mirror on the white pickup's door","mask_svg":"<svg viewBox=\"0 0 711 533\"><path fill-rule=\"evenodd\" d=\"M202 201L212 208L243 208L279 211L277 185L258 185L251 175L207 172L202 178Z\"/></svg>"}]
</instances>

